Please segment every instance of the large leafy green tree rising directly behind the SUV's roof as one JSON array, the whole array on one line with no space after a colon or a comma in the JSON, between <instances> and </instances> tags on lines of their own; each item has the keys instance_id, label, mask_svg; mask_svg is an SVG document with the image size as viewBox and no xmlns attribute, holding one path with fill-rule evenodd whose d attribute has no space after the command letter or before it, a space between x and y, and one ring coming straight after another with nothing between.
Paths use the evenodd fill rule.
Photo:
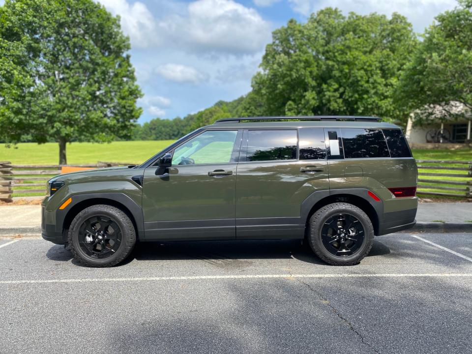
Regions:
<instances>
[{"instance_id":1,"label":"large leafy green tree rising directly behind the SUV's roof","mask_svg":"<svg viewBox=\"0 0 472 354\"><path fill-rule=\"evenodd\" d=\"M417 44L405 17L325 8L272 37L252 81L264 114L402 116L393 93Z\"/></svg>"}]
</instances>

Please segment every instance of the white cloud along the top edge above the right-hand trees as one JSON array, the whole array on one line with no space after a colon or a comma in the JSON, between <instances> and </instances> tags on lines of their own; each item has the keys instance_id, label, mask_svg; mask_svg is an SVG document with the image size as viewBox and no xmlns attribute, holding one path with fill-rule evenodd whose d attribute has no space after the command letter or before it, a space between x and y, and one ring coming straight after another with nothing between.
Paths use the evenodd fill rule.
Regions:
<instances>
[{"instance_id":1,"label":"white cloud along the top edge above the right-hand trees","mask_svg":"<svg viewBox=\"0 0 472 354\"><path fill-rule=\"evenodd\" d=\"M324 7L338 7L345 15L348 12L369 14L378 12L391 15L398 12L407 17L417 32L423 32L434 17L457 5L456 0L289 0L293 10L309 16Z\"/></svg>"}]
</instances>

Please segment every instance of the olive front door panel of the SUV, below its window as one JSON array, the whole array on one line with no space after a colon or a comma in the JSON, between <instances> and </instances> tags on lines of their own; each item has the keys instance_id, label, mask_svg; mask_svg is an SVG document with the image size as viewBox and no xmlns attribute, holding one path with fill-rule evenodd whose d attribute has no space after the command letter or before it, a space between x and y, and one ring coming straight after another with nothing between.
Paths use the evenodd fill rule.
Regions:
<instances>
[{"instance_id":1,"label":"olive front door panel of the SUV, below its window","mask_svg":"<svg viewBox=\"0 0 472 354\"><path fill-rule=\"evenodd\" d=\"M223 170L231 175L208 176ZM156 176L145 170L146 238L235 238L236 163L184 165Z\"/></svg>"}]
</instances>

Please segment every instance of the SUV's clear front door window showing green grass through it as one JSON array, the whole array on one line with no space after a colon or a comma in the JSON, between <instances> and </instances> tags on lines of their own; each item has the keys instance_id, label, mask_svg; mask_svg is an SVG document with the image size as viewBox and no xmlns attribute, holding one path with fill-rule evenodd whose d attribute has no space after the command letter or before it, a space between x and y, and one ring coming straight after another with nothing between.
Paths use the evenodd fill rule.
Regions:
<instances>
[{"instance_id":1,"label":"SUV's clear front door window showing green grass through it","mask_svg":"<svg viewBox=\"0 0 472 354\"><path fill-rule=\"evenodd\" d=\"M237 130L206 131L174 151L173 165L225 163L231 161Z\"/></svg>"}]
</instances>

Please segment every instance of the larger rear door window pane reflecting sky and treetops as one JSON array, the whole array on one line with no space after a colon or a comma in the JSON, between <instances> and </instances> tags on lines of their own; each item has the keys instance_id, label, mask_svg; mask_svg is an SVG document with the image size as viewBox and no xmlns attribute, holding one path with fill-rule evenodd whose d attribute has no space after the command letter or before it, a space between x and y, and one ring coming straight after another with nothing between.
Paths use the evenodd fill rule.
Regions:
<instances>
[{"instance_id":1,"label":"larger rear door window pane reflecting sky and treetops","mask_svg":"<svg viewBox=\"0 0 472 354\"><path fill-rule=\"evenodd\" d=\"M296 159L296 130L249 130L246 161Z\"/></svg>"}]
</instances>

